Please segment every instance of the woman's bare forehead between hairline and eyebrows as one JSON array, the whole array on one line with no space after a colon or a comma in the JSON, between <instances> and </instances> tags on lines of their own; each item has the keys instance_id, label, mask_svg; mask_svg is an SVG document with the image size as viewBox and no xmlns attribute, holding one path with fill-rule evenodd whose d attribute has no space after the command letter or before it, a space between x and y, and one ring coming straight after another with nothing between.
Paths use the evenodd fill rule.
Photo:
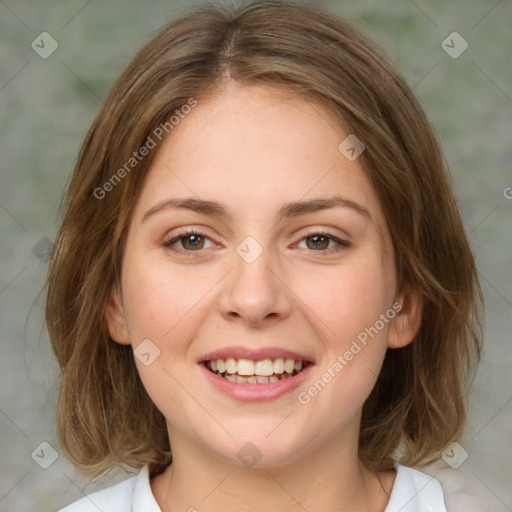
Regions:
<instances>
[{"instance_id":1,"label":"woman's bare forehead between hairline and eyebrows","mask_svg":"<svg viewBox=\"0 0 512 512\"><path fill-rule=\"evenodd\" d=\"M157 147L139 220L169 196L214 200L230 214L263 219L285 203L340 194L367 209L379 230L378 198L334 113L271 86L230 85L198 104ZM269 217L270 218L270 217Z\"/></svg>"}]
</instances>

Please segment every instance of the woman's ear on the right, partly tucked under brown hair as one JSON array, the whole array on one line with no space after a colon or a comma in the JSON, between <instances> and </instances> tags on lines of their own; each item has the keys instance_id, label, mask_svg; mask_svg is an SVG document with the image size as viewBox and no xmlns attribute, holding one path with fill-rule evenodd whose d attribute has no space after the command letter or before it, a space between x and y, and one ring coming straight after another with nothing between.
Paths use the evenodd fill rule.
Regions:
<instances>
[{"instance_id":1,"label":"woman's ear on the right, partly tucked under brown hair","mask_svg":"<svg viewBox=\"0 0 512 512\"><path fill-rule=\"evenodd\" d=\"M402 348L411 343L420 330L422 304L419 293L412 289L404 290L396 298L393 309L399 311L389 329L388 348Z\"/></svg>"}]
</instances>

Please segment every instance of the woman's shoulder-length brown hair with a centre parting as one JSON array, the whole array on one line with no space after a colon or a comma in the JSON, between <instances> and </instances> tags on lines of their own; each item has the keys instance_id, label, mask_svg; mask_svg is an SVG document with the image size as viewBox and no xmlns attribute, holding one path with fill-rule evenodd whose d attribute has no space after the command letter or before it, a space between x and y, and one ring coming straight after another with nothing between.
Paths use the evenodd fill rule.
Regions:
<instances>
[{"instance_id":1,"label":"woman's shoulder-length brown hair with a centre parting","mask_svg":"<svg viewBox=\"0 0 512 512\"><path fill-rule=\"evenodd\" d=\"M167 25L114 83L87 133L47 280L66 456L91 477L144 464L157 474L172 460L165 419L139 379L131 346L113 342L105 321L124 235L156 152L104 199L95 191L176 109L227 80L317 101L364 142L359 161L386 217L398 287L419 293L422 325L413 343L387 351L364 404L359 453L373 468L394 458L409 466L432 460L462 435L481 350L482 294L440 149L411 90L373 43L317 6L281 1L200 7Z\"/></svg>"}]
</instances>

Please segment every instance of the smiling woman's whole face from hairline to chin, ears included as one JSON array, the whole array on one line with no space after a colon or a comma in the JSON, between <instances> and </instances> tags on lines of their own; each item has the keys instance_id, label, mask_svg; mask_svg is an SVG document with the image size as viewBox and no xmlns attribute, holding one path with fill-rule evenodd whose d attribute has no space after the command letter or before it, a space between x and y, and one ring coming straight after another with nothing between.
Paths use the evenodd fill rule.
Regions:
<instances>
[{"instance_id":1,"label":"smiling woman's whole face from hairline to chin, ears included","mask_svg":"<svg viewBox=\"0 0 512 512\"><path fill-rule=\"evenodd\" d=\"M153 149L107 320L171 446L268 466L335 440L357 449L386 349L413 334L377 196L338 149L348 135L318 105L230 85ZM250 380L215 375L217 359Z\"/></svg>"}]
</instances>

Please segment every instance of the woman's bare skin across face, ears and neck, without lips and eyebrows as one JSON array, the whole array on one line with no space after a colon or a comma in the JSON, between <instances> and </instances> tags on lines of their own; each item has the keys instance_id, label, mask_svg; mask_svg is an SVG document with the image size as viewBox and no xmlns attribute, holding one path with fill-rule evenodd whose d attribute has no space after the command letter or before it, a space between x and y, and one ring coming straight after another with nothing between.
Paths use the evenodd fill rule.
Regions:
<instances>
[{"instance_id":1,"label":"woman's bare skin across face, ears and neck, without lips and eyebrows","mask_svg":"<svg viewBox=\"0 0 512 512\"><path fill-rule=\"evenodd\" d=\"M122 296L112 291L106 316L118 343L136 348L148 338L160 350L151 365L136 363L173 451L173 464L152 480L164 512L386 507L394 472L376 475L360 463L361 410L386 349L411 342L420 316L416 295L397 290L377 196L358 160L338 150L347 135L316 104L230 83L199 101L158 147L128 231ZM342 207L276 220L286 202L335 193L371 218ZM224 203L232 217L165 209L142 222L160 201L190 196ZM186 228L206 237L199 250L190 237L163 246ZM350 247L334 252L339 245L327 238L316 248L311 237L320 229ZM236 252L247 236L263 249L252 263ZM395 302L400 313L299 403L297 391ZM315 367L299 390L240 402L215 390L197 364L235 345L295 350ZM247 442L262 455L251 468L237 457Z\"/></svg>"}]
</instances>

